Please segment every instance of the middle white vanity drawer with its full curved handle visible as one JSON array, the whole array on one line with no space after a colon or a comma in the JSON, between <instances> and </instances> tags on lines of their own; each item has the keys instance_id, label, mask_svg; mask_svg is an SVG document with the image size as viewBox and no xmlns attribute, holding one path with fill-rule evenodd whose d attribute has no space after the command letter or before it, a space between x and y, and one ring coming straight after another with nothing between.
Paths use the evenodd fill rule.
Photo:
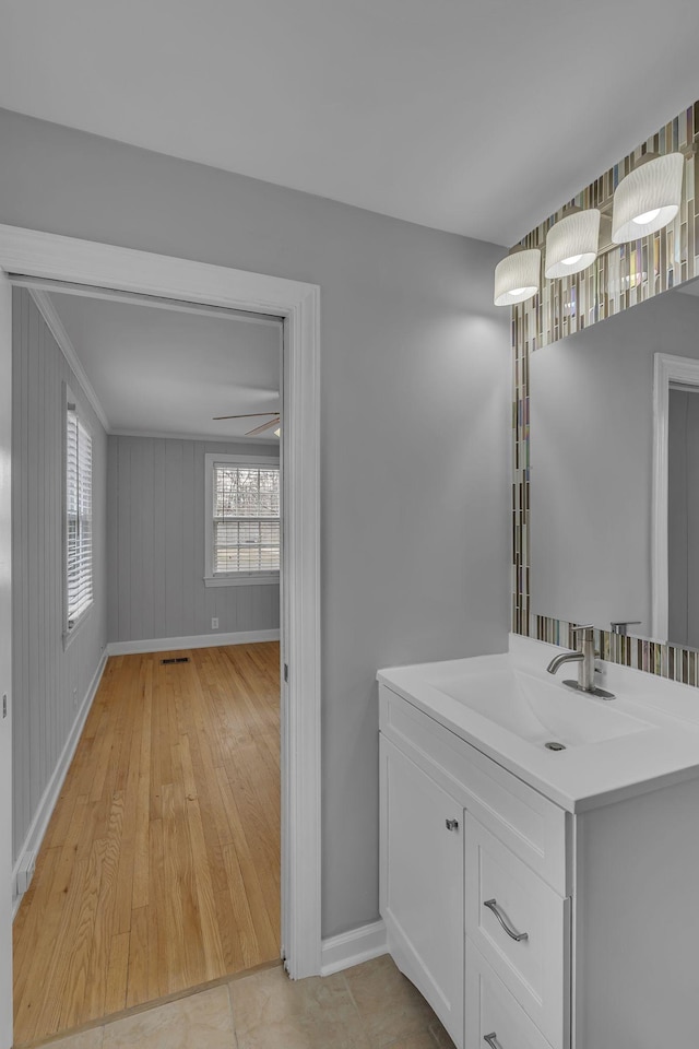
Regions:
<instances>
[{"instance_id":1,"label":"middle white vanity drawer with its full curved handle visible","mask_svg":"<svg viewBox=\"0 0 699 1049\"><path fill-rule=\"evenodd\" d=\"M465 828L466 934L552 1046L566 1049L570 900L471 814Z\"/></svg>"}]
</instances>

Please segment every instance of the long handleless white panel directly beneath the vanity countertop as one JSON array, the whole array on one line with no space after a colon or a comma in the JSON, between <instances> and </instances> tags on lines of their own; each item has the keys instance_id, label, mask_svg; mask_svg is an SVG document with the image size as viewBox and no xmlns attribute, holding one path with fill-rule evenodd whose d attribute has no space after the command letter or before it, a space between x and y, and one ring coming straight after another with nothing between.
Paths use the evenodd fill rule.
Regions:
<instances>
[{"instance_id":1,"label":"long handleless white panel directly beneath the vanity countertop","mask_svg":"<svg viewBox=\"0 0 699 1049\"><path fill-rule=\"evenodd\" d=\"M383 684L379 703L381 733L556 892L568 895L568 814Z\"/></svg>"}]
</instances>

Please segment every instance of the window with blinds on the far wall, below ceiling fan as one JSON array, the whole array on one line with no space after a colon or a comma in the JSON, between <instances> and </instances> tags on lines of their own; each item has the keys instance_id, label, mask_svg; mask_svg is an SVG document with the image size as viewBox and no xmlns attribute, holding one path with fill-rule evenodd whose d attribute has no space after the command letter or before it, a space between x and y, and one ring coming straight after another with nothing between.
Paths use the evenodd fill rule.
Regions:
<instances>
[{"instance_id":1,"label":"window with blinds on the far wall, below ceiling fan","mask_svg":"<svg viewBox=\"0 0 699 1049\"><path fill-rule=\"evenodd\" d=\"M276 582L281 518L277 459L206 456L205 582Z\"/></svg>"}]
</instances>

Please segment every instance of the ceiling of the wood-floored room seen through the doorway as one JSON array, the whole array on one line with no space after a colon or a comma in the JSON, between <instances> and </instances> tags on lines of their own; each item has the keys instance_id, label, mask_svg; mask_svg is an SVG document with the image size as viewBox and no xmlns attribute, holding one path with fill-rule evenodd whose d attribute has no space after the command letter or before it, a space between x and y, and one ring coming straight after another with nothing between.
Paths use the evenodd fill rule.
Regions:
<instances>
[{"instance_id":1,"label":"ceiling of the wood-floored room seen through the doorway","mask_svg":"<svg viewBox=\"0 0 699 1049\"><path fill-rule=\"evenodd\" d=\"M48 298L112 433L228 439L269 419L212 416L280 410L279 321ZM253 439L276 440L273 431Z\"/></svg>"}]
</instances>

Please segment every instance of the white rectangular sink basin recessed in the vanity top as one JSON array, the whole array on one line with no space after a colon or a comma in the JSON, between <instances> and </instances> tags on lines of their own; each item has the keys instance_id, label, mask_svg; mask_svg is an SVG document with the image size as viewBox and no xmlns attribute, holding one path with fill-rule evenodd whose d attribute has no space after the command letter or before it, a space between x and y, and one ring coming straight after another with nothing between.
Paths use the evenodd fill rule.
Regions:
<instances>
[{"instance_id":1,"label":"white rectangular sink basin recessed in the vanity top","mask_svg":"<svg viewBox=\"0 0 699 1049\"><path fill-rule=\"evenodd\" d=\"M436 664L424 680L534 745L557 743L567 750L651 728L647 721L615 710L611 702L573 692L560 682L549 684L519 668L450 674Z\"/></svg>"}]
</instances>

